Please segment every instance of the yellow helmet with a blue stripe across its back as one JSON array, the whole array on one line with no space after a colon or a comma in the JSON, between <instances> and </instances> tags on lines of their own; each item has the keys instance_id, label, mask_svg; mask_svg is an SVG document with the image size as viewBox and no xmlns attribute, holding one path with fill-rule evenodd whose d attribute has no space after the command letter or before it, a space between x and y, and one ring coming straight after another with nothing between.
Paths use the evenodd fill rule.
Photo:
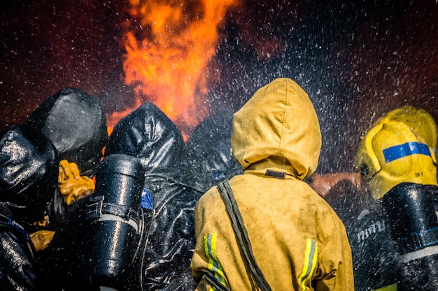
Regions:
<instances>
[{"instance_id":1,"label":"yellow helmet with a blue stripe across its back","mask_svg":"<svg viewBox=\"0 0 438 291\"><path fill-rule=\"evenodd\" d=\"M403 182L438 186L436 164L429 144L400 121L382 121L371 128L355 158L375 200Z\"/></svg>"}]
</instances>

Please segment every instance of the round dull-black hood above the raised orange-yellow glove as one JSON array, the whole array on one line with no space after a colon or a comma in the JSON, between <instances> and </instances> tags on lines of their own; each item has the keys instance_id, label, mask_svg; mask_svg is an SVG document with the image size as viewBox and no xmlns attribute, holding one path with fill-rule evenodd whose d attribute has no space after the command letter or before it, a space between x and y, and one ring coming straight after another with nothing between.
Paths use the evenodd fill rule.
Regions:
<instances>
[{"instance_id":1,"label":"round dull-black hood above the raised orange-yellow glove","mask_svg":"<svg viewBox=\"0 0 438 291\"><path fill-rule=\"evenodd\" d=\"M32 112L28 124L49 137L60 160L76 163L83 176L94 176L108 138L97 99L76 88L62 89Z\"/></svg>"}]
</instances>

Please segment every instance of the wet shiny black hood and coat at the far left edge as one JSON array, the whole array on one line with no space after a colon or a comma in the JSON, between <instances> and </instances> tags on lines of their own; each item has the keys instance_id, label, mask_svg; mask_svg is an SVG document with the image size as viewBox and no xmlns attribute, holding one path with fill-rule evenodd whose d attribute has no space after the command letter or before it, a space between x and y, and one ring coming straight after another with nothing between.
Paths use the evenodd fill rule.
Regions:
<instances>
[{"instance_id":1,"label":"wet shiny black hood and coat at the far left edge","mask_svg":"<svg viewBox=\"0 0 438 291\"><path fill-rule=\"evenodd\" d=\"M0 135L0 290L36 290L25 228L43 218L58 162L53 144L33 128L19 124Z\"/></svg>"}]
</instances>

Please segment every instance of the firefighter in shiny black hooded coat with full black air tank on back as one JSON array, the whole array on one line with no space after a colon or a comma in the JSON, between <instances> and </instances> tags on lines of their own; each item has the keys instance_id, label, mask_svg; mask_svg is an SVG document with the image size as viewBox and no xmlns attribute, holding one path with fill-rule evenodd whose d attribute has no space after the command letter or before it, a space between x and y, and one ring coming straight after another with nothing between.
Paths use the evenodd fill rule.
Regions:
<instances>
[{"instance_id":1,"label":"firefighter in shiny black hooded coat with full black air tank on back","mask_svg":"<svg viewBox=\"0 0 438 291\"><path fill-rule=\"evenodd\" d=\"M193 209L201 193L180 181L184 146L153 103L120 119L94 193L69 208L55 233L50 276L58 279L49 290L194 290Z\"/></svg>"}]
</instances>

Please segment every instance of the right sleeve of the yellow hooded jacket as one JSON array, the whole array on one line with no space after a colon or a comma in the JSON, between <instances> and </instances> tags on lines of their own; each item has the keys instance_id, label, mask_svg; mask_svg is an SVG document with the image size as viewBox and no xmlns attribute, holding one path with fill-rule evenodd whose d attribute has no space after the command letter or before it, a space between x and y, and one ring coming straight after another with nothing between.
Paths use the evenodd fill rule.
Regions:
<instances>
[{"instance_id":1,"label":"right sleeve of the yellow hooded jacket","mask_svg":"<svg viewBox=\"0 0 438 291\"><path fill-rule=\"evenodd\" d=\"M336 221L335 221L336 222ZM334 234L320 251L320 269L314 281L315 290L353 291L353 260L344 225L339 218Z\"/></svg>"}]
</instances>

